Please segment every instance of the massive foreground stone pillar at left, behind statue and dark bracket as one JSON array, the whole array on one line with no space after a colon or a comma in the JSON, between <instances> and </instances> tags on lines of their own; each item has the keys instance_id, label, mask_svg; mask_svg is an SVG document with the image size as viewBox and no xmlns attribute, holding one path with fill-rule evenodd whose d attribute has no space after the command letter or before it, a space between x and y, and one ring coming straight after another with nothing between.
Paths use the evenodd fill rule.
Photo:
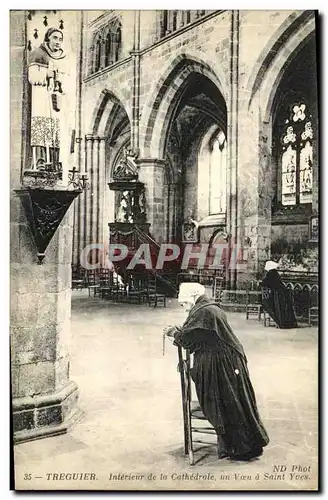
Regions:
<instances>
[{"instance_id":1,"label":"massive foreground stone pillar at left, behind statue and dark bracket","mask_svg":"<svg viewBox=\"0 0 328 500\"><path fill-rule=\"evenodd\" d=\"M78 389L69 378L73 207L37 263L21 187L26 147L25 11L10 13L11 45L11 389L16 442L66 432L80 417Z\"/></svg>"}]
</instances>

